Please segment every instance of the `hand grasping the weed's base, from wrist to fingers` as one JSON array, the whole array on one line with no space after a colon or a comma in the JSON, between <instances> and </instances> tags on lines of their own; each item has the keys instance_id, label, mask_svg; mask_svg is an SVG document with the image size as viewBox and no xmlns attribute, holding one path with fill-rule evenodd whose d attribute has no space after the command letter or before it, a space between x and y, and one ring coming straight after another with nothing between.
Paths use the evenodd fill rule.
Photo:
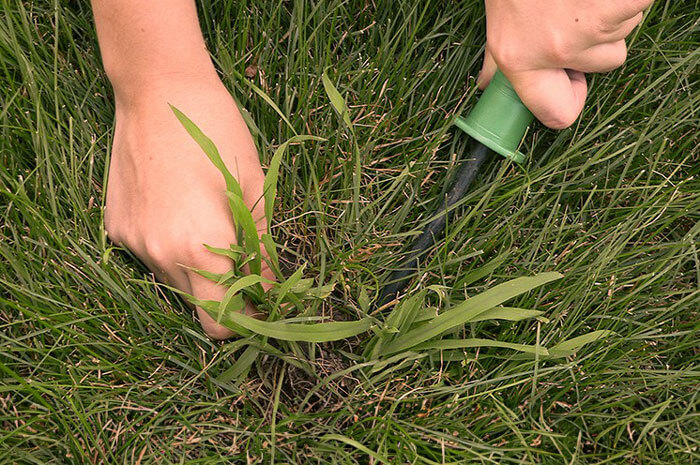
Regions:
<instances>
[{"instance_id":1,"label":"hand grasping the weed's base, from wrist to fingers","mask_svg":"<svg viewBox=\"0 0 700 465\"><path fill-rule=\"evenodd\" d=\"M168 75L156 81L139 83L133 92L116 92L107 232L111 240L131 249L158 280L198 299L220 300L224 288L186 267L215 273L231 269L229 259L203 246L226 248L235 242L226 186L168 103L217 145L241 184L246 204L255 205L253 218L263 233L263 172L258 154L234 100L216 77ZM274 279L269 270L263 274ZM202 309L197 312L210 337L232 335ZM249 305L246 313L254 309Z\"/></svg>"}]
</instances>

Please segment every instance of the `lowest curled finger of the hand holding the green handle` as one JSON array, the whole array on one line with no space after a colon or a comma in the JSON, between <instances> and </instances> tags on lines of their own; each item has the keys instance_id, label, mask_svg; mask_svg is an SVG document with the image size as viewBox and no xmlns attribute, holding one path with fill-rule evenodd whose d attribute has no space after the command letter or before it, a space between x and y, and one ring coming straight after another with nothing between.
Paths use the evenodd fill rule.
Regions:
<instances>
[{"instance_id":1,"label":"lowest curled finger of the hand holding the green handle","mask_svg":"<svg viewBox=\"0 0 700 465\"><path fill-rule=\"evenodd\" d=\"M507 73L525 106L545 126L571 126L586 101L586 77L579 71L547 69Z\"/></svg>"}]
</instances>

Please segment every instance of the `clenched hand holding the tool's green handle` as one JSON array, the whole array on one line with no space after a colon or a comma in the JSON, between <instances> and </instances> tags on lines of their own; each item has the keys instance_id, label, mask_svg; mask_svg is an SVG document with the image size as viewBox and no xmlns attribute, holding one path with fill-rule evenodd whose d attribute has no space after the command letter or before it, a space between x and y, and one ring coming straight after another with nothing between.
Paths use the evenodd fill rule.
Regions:
<instances>
[{"instance_id":1,"label":"clenched hand holding the tool's green handle","mask_svg":"<svg viewBox=\"0 0 700 465\"><path fill-rule=\"evenodd\" d=\"M563 129L586 100L584 73L621 66L625 37L653 0L486 0L482 89L500 69L546 126Z\"/></svg>"}]
</instances>

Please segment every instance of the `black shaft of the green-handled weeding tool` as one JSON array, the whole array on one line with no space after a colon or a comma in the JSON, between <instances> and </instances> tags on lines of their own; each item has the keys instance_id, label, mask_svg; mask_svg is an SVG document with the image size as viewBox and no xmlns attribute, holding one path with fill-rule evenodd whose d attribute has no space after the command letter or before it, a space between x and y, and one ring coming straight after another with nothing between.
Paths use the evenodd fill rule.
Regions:
<instances>
[{"instance_id":1,"label":"black shaft of the green-handled weeding tool","mask_svg":"<svg viewBox=\"0 0 700 465\"><path fill-rule=\"evenodd\" d=\"M379 306L388 303L404 290L410 281L411 275L418 271L418 265L425 252L442 238L450 208L464 197L467 189L469 189L469 185L476 177L476 173L488 158L490 152L485 145L472 140L470 154L464 158L459 166L459 171L456 173L452 187L445 197L445 202L438 212L435 213L435 215L442 214L423 230L413 243L407 258L391 273L387 285L384 286L379 294Z\"/></svg>"}]
</instances>

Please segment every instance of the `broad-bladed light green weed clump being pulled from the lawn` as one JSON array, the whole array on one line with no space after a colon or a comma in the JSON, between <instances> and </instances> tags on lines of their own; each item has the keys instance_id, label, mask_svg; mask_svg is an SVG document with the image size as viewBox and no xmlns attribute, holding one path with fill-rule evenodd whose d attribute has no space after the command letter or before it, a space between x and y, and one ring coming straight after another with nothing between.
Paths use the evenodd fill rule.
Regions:
<instances>
[{"instance_id":1,"label":"broad-bladed light green weed clump being pulled from the lawn","mask_svg":"<svg viewBox=\"0 0 700 465\"><path fill-rule=\"evenodd\" d=\"M331 104L338 111L343 122L351 127L347 107L342 95L330 80L323 75L323 85ZM243 355L234 363L223 380L233 378L241 382L250 367L261 354L280 357L292 361L296 366L312 371L313 365L303 356L305 351L298 343L324 343L339 341L371 331L373 336L355 346L356 354L347 354L354 362L363 367L415 360L422 357L439 355L443 359L458 360L464 357L463 350L474 347L497 347L515 350L541 358L557 358L571 355L583 345L612 334L611 331L595 331L564 341L551 351L539 344L514 344L481 338L455 339L442 337L459 331L464 325L488 320L522 321L542 317L542 312L522 308L503 307L502 304L519 295L560 279L556 272L539 273L532 277L516 278L501 283L480 294L454 305L443 312L437 308L426 307L426 291L407 297L393 310L384 314L381 309L373 311L368 298L361 299L360 315L355 321L314 322L322 319L309 314L305 303L313 299L327 297L334 285L315 285L313 278L304 278L305 264L302 264L291 276L283 275L277 255L278 245L272 236L270 225L277 197L277 181L282 158L290 144L324 139L310 135L296 135L281 144L275 151L265 174L263 199L268 230L260 236L251 210L243 201L243 192L236 178L226 167L219 155L216 145L197 125L177 108L171 106L189 135L199 144L206 156L216 166L226 183L226 196L236 229L236 243L229 248L206 246L215 254L228 257L232 268L224 274L215 274L206 270L194 270L202 276L228 289L221 301L199 300L192 295L182 293L192 304L203 308L217 323L235 331L245 338ZM265 251L266 253L263 253ZM261 275L265 262L276 277L269 280ZM245 268L247 267L247 269ZM477 270L478 274L478 270ZM267 290L263 283L269 285ZM265 319L256 319L242 313L250 300L265 315ZM282 350L270 344L270 340L283 341ZM291 345L291 346L290 346ZM292 358L291 356L295 357ZM222 378L220 378L220 381Z\"/></svg>"}]
</instances>

